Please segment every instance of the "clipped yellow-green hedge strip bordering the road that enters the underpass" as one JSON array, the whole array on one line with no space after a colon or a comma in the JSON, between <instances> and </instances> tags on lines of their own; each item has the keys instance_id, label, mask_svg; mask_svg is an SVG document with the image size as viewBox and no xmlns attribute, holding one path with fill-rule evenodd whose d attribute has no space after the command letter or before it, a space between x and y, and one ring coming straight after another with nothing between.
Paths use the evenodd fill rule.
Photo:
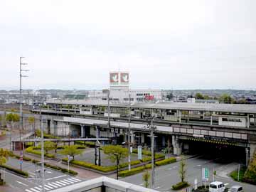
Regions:
<instances>
[{"instance_id":1,"label":"clipped yellow-green hedge strip bordering the road that enters the underpass","mask_svg":"<svg viewBox=\"0 0 256 192\"><path fill-rule=\"evenodd\" d=\"M174 163L176 162L176 158L174 157L171 157L169 159L164 159L164 160L161 160L161 161L156 161L156 166L161 166L161 165L166 165L166 164L171 164L171 163ZM131 175L134 175L134 174L138 174L146 169L151 169L151 164L146 164L145 166L138 166L136 168L133 168L131 169L130 171L129 170L124 170L124 171L119 171L118 175L119 176L131 176Z\"/></svg>"}]
</instances>

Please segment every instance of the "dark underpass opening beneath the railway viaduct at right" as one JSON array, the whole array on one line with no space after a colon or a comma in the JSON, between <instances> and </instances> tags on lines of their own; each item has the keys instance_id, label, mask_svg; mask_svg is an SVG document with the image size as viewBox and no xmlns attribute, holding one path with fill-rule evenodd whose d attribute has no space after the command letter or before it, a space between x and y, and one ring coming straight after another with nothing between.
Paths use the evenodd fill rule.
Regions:
<instances>
[{"instance_id":1,"label":"dark underpass opening beneath the railway viaduct at right","mask_svg":"<svg viewBox=\"0 0 256 192\"><path fill-rule=\"evenodd\" d=\"M245 164L245 146L205 139L182 139L182 151L185 154L203 155L206 159Z\"/></svg>"}]
</instances>

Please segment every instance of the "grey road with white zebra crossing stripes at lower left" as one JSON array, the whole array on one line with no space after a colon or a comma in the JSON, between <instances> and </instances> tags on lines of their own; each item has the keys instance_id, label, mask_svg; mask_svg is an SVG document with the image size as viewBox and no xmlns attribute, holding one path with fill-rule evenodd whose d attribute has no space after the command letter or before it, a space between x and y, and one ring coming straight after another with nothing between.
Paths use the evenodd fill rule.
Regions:
<instances>
[{"instance_id":1,"label":"grey road with white zebra crossing stripes at lower left","mask_svg":"<svg viewBox=\"0 0 256 192\"><path fill-rule=\"evenodd\" d=\"M17 169L20 167L19 161L17 159L9 159L7 164L14 166ZM40 192L42 188L41 179L38 178L37 174L35 174L35 170L40 169L40 166L32 164L31 162L23 161L22 169L24 171L28 171L28 174L30 174L31 178L21 178L6 172L6 183L14 188L21 189L22 191ZM85 179L73 177L48 168L46 168L45 178L46 191L51 191L56 188L62 188L63 186L70 186L74 183L85 181Z\"/></svg>"}]
</instances>

